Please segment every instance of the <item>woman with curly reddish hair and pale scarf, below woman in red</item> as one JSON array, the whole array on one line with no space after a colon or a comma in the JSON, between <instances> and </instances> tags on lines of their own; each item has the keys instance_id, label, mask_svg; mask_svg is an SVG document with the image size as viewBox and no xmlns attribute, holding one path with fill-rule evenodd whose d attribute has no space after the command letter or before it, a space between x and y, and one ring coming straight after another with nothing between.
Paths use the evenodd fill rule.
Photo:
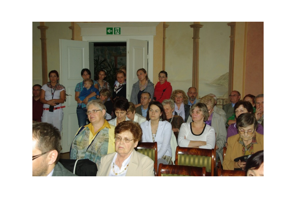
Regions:
<instances>
[{"instance_id":1,"label":"woman with curly reddish hair and pale scarf, below woman in red","mask_svg":"<svg viewBox=\"0 0 296 198\"><path fill-rule=\"evenodd\" d=\"M184 122L187 122L189 117L190 105L187 104L188 96L183 90L174 90L170 99L175 101L174 115L179 115L183 118Z\"/></svg>"}]
</instances>

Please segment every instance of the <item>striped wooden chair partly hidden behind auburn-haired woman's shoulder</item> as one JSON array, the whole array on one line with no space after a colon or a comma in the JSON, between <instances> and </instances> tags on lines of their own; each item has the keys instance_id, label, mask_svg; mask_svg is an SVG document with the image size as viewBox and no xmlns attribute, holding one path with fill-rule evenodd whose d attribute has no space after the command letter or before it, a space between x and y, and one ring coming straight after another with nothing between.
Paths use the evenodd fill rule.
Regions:
<instances>
[{"instance_id":1,"label":"striped wooden chair partly hidden behind auburn-haired woman's shoulder","mask_svg":"<svg viewBox=\"0 0 296 198\"><path fill-rule=\"evenodd\" d=\"M147 155L154 162L154 173L157 176L157 142L140 142L135 150L141 154Z\"/></svg>"}]
</instances>

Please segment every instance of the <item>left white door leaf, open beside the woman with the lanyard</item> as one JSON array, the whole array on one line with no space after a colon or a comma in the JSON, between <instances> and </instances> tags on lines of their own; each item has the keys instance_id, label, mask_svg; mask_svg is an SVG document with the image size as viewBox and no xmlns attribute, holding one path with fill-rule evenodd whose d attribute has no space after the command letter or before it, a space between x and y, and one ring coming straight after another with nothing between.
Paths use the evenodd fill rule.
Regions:
<instances>
[{"instance_id":1,"label":"left white door leaf, open beside the woman with the lanyard","mask_svg":"<svg viewBox=\"0 0 296 198\"><path fill-rule=\"evenodd\" d=\"M69 152L73 138L78 131L75 101L75 87L82 82L81 70L89 68L89 42L60 39L60 83L65 86L67 100L62 129L62 152Z\"/></svg>"}]
</instances>

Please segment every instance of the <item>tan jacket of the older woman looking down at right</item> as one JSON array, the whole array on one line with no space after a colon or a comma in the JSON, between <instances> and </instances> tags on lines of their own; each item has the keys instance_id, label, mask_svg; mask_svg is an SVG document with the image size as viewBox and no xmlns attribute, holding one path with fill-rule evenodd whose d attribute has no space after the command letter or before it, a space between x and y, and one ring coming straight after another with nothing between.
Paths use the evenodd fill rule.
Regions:
<instances>
[{"instance_id":1,"label":"tan jacket of the older woman looking down at right","mask_svg":"<svg viewBox=\"0 0 296 198\"><path fill-rule=\"evenodd\" d=\"M257 144L254 144L254 153L264 149L263 135L256 131L255 134ZM234 170L234 159L242 156L242 144L239 144L238 139L239 134L230 136L227 140L228 147L222 164L224 170Z\"/></svg>"}]
</instances>

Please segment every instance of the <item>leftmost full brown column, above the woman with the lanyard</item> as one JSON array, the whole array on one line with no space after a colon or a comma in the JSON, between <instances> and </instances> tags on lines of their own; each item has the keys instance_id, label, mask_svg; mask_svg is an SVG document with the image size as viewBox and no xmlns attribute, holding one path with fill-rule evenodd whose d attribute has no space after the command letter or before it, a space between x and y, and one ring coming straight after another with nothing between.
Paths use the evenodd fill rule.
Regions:
<instances>
[{"instance_id":1,"label":"leftmost full brown column, above the woman with the lanyard","mask_svg":"<svg viewBox=\"0 0 296 198\"><path fill-rule=\"evenodd\" d=\"M41 31L41 57L42 57L42 84L47 83L47 52L46 52L46 30L45 22L40 22L37 27Z\"/></svg>"}]
</instances>

